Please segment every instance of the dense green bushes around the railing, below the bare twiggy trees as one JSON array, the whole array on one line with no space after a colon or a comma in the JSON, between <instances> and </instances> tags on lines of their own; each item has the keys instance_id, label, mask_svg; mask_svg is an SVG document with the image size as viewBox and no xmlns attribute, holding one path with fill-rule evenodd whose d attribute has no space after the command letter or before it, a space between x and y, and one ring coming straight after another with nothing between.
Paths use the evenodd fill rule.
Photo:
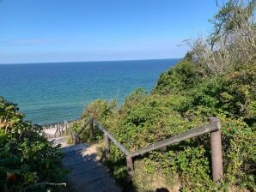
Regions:
<instances>
[{"instance_id":1,"label":"dense green bushes around the railing, below the bare twiggy trees","mask_svg":"<svg viewBox=\"0 0 256 192\"><path fill-rule=\"evenodd\" d=\"M181 78L180 83L186 76L194 78L195 75L187 74L177 77L177 71L183 71L181 68L186 68L186 64L170 69L175 73L170 73L168 78ZM149 189L149 178L145 175L150 177L161 170L165 183L175 183L174 176L178 177L181 191L254 190L255 75L255 64L243 64L241 69L236 67L222 75L192 80L188 86L185 83L162 84L161 80L158 81L161 85L151 94L139 88L127 96L119 108L112 101L96 100L85 114L95 117L130 151L208 123L211 116L220 117L224 167L221 185L211 180L210 136L202 135L170 146L166 152L146 154L145 160L137 159L140 163L138 166L135 163L134 179L139 182L134 183L145 186L137 184L135 188L138 187L138 191ZM173 92L174 89L180 92ZM125 181L126 184L129 181L125 156L116 147L112 146L111 150L107 165L119 183L125 185Z\"/></svg>"}]
</instances>

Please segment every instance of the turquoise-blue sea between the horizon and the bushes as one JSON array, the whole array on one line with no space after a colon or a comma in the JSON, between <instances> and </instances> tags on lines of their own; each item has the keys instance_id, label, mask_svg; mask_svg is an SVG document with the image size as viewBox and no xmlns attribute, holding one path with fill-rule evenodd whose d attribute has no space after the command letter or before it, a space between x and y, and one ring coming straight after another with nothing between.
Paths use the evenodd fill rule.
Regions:
<instances>
[{"instance_id":1,"label":"turquoise-blue sea between the horizon and the bushes","mask_svg":"<svg viewBox=\"0 0 256 192\"><path fill-rule=\"evenodd\" d=\"M137 87L150 91L179 59L0 65L0 96L33 123L76 119L94 99L117 99Z\"/></svg>"}]
</instances>

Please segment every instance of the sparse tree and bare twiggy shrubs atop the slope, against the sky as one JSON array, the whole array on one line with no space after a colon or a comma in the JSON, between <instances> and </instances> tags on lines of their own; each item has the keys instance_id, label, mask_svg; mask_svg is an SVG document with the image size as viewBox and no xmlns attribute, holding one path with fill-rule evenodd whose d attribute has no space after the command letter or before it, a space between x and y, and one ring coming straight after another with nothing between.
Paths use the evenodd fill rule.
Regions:
<instances>
[{"instance_id":1,"label":"sparse tree and bare twiggy shrubs atop the slope, against the sky","mask_svg":"<svg viewBox=\"0 0 256 192\"><path fill-rule=\"evenodd\" d=\"M213 30L209 37L188 41L192 58L205 73L222 73L238 63L255 62L255 7L256 0L229 0L210 20Z\"/></svg>"}]
</instances>

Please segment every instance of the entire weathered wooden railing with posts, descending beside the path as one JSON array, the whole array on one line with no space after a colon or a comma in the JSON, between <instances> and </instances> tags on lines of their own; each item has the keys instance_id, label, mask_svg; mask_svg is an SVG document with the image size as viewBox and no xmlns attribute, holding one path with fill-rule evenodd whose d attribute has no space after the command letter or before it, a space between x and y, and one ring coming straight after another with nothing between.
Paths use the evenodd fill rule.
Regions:
<instances>
[{"instance_id":1,"label":"entire weathered wooden railing with posts, descending beside the path","mask_svg":"<svg viewBox=\"0 0 256 192\"><path fill-rule=\"evenodd\" d=\"M110 141L113 141L113 144L125 154L127 170L131 176L134 172L133 159L136 156L143 155L144 153L149 153L150 151L161 149L163 147L168 147L169 145L174 145L176 143L179 143L180 141L185 141L186 139L190 139L198 135L204 135L204 134L210 133L212 179L214 182L218 182L223 176L221 123L220 123L220 120L216 117L210 117L210 123L202 127L199 127L197 129L190 129L185 133L181 133L180 135L175 135L163 141L155 142L153 144L150 144L147 147L137 149L136 151L133 151L133 152L130 152L129 150L127 150L121 143L119 143L119 141L117 141L113 137L113 135L111 135L107 131L107 129L103 128L101 124L95 121L93 118L90 118L87 123L84 123L84 125L82 126L82 129L78 132L77 135L74 136L75 143L78 142L78 136L82 133L82 131L86 128L88 124L90 124L89 133L91 138L94 135L94 125L98 129L100 129L101 132L103 132L104 143L105 143L104 151L105 151L106 158L109 158L109 154L110 154Z\"/></svg>"}]
</instances>

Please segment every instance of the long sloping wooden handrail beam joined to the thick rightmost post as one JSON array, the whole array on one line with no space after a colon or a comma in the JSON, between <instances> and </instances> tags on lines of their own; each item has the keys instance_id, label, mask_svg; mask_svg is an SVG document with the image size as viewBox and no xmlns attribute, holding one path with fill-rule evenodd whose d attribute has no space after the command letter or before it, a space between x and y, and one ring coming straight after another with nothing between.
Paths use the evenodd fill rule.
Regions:
<instances>
[{"instance_id":1,"label":"long sloping wooden handrail beam joined to the thick rightmost post","mask_svg":"<svg viewBox=\"0 0 256 192\"><path fill-rule=\"evenodd\" d=\"M150 151L153 151L155 149L159 149L162 147L166 147L168 145L172 145L174 143L178 143L180 141L184 141L186 139L190 139L192 137L198 136L198 135L203 135L206 133L210 133L213 131L216 131L220 129L218 126L216 126L216 122L208 123L202 127L199 127L197 129L190 129L185 133L182 133L180 135L175 135L172 136L166 140L155 142L154 144L151 144L147 147L143 147L141 149L138 149L137 151L129 153L130 157L135 157L137 155L142 155L143 153L148 153Z\"/></svg>"}]
</instances>

